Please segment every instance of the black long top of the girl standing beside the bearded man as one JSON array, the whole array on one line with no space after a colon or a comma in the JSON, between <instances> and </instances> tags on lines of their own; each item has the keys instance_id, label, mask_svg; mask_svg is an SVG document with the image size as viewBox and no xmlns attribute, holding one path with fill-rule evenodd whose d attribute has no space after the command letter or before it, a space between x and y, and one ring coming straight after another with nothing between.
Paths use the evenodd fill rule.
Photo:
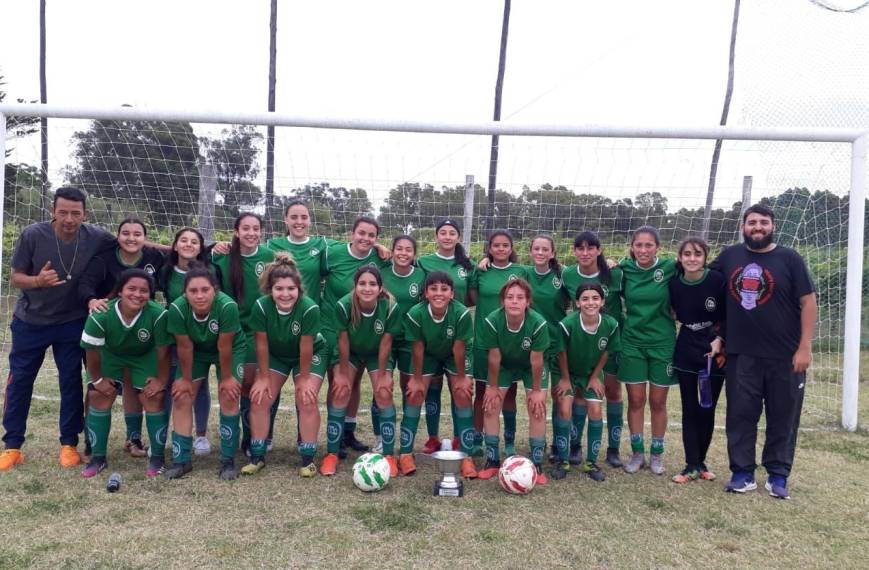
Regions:
<instances>
[{"instance_id":1,"label":"black long top of the girl standing beside the bearded man","mask_svg":"<svg viewBox=\"0 0 869 570\"><path fill-rule=\"evenodd\" d=\"M709 352L709 343L719 334L724 319L724 276L710 269L699 281L686 281L676 275L670 280L670 305L682 324L673 366L686 372L706 368L703 355Z\"/></svg>"}]
</instances>

